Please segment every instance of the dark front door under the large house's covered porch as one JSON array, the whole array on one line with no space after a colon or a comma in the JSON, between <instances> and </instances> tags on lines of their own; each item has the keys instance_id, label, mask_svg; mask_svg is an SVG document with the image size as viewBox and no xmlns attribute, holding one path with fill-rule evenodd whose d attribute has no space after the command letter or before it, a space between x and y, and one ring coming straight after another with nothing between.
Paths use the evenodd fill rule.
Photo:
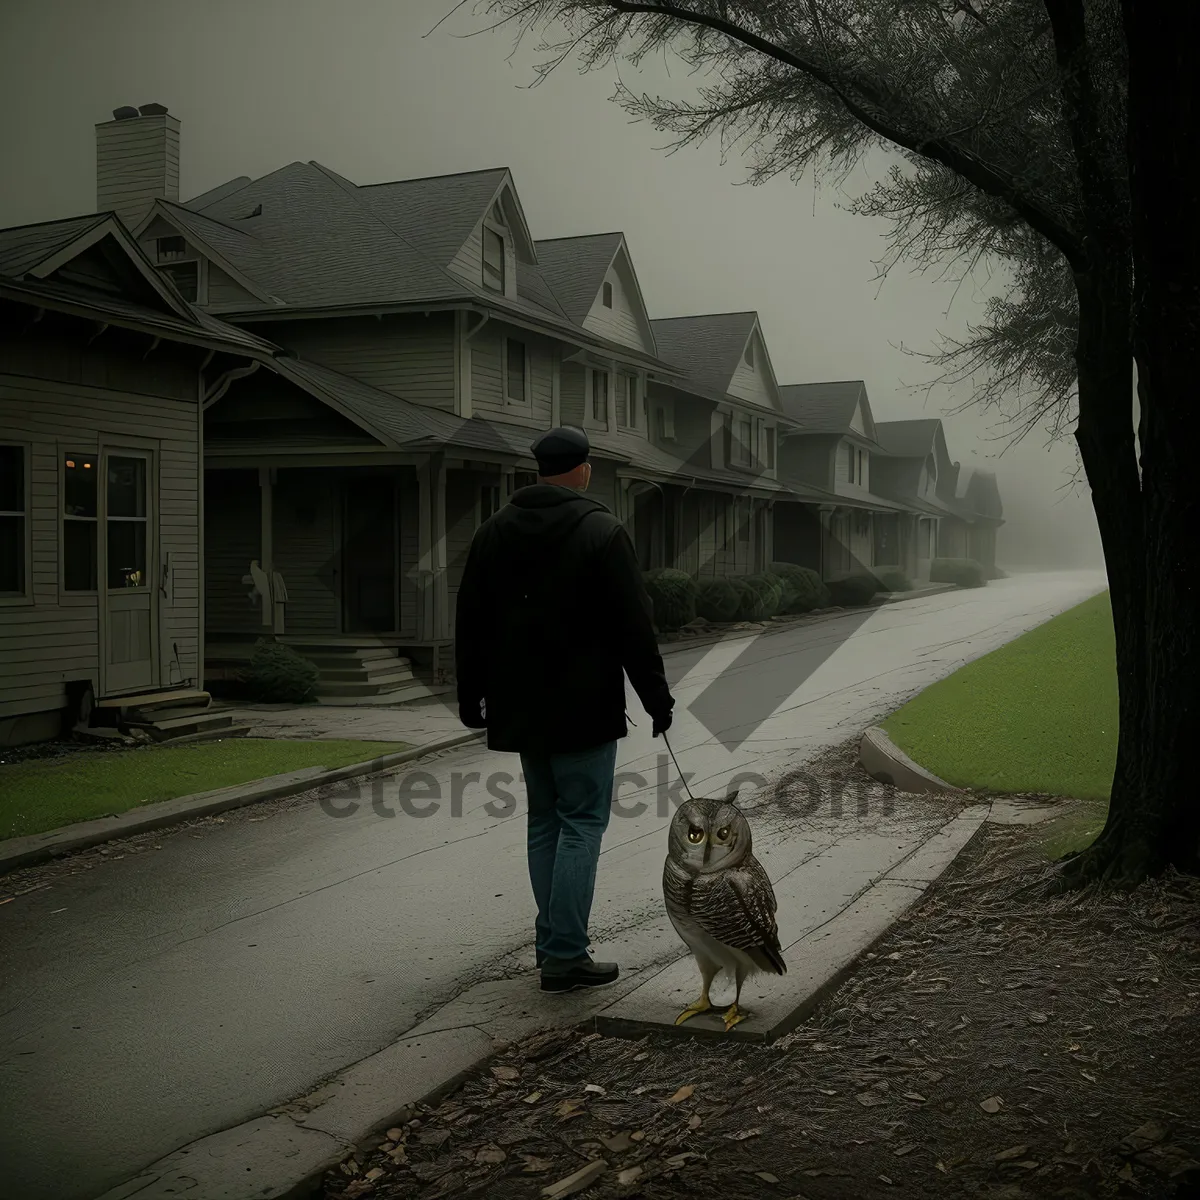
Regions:
<instances>
[{"instance_id":1,"label":"dark front door under the large house's covered porch","mask_svg":"<svg viewBox=\"0 0 1200 1200\"><path fill-rule=\"evenodd\" d=\"M400 629L396 479L365 476L346 484L342 502L342 581L347 634Z\"/></svg>"}]
</instances>

